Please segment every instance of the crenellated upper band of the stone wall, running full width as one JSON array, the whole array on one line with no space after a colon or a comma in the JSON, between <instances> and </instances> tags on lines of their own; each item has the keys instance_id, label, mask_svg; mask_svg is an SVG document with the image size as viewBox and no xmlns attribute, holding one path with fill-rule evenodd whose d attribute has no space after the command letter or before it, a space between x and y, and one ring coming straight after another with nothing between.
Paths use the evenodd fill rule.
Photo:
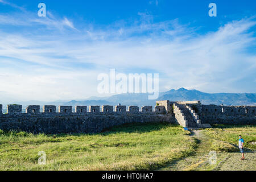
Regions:
<instances>
[{"instance_id":1,"label":"crenellated upper band of the stone wall, running full width","mask_svg":"<svg viewBox=\"0 0 256 182\"><path fill-rule=\"evenodd\" d=\"M73 112L72 106L59 106L56 111L54 105L44 105L43 112L40 113L39 105L29 105L26 107L26 113L22 113L22 105L7 105L7 115L23 114L23 115L37 115L37 114L51 114L51 115L127 115L127 114L170 114L173 113L173 106L175 104L187 105L193 107L199 115L216 114L216 115L256 115L256 106L219 106L219 105L202 105L200 101L156 101L156 106L143 106L139 110L138 106L75 106ZM87 110L87 108L89 110ZM0 114L2 113L3 106L0 104Z\"/></svg>"}]
</instances>

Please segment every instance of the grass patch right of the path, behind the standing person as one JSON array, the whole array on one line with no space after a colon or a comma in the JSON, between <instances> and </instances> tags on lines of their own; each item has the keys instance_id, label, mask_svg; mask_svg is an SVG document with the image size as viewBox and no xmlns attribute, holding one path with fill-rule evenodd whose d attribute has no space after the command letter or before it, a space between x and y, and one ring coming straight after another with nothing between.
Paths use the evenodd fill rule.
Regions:
<instances>
[{"instance_id":1,"label":"grass patch right of the path, behind the standing person","mask_svg":"<svg viewBox=\"0 0 256 182\"><path fill-rule=\"evenodd\" d=\"M253 142L256 142L255 125L214 125L212 129L205 130L205 134L210 138L235 145L238 145L238 136L242 135L245 140L245 148L256 149L255 144L253 144Z\"/></svg>"}]
</instances>

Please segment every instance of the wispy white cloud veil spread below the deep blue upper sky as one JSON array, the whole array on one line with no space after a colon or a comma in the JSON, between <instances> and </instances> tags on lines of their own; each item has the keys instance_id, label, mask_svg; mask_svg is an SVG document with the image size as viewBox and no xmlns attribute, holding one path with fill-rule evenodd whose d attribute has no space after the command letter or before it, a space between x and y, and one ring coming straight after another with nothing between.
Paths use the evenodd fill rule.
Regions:
<instances>
[{"instance_id":1,"label":"wispy white cloud veil spread below the deep blue upper sky","mask_svg":"<svg viewBox=\"0 0 256 182\"><path fill-rule=\"evenodd\" d=\"M77 31L69 18L52 13L45 19L29 13L20 18L1 14L0 25L36 26L0 32L0 97L8 92L9 98L19 100L86 98L97 95L97 75L110 68L160 73L160 90L256 91L248 86L255 84L251 78L256 56L249 51L255 46L250 31L254 18L229 22L202 35L177 19L154 23L150 14L139 16L129 26L85 25Z\"/></svg>"}]
</instances>

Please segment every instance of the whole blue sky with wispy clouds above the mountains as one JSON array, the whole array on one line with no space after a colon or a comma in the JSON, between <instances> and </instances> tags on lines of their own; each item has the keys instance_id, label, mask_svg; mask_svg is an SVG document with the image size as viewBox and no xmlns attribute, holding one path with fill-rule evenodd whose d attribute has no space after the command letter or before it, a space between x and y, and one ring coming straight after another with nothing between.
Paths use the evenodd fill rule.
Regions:
<instances>
[{"instance_id":1,"label":"whole blue sky with wispy clouds above the mountains","mask_svg":"<svg viewBox=\"0 0 256 182\"><path fill-rule=\"evenodd\" d=\"M255 93L255 13L255 1L0 0L0 99L105 96L110 68L159 73L160 91Z\"/></svg>"}]
</instances>

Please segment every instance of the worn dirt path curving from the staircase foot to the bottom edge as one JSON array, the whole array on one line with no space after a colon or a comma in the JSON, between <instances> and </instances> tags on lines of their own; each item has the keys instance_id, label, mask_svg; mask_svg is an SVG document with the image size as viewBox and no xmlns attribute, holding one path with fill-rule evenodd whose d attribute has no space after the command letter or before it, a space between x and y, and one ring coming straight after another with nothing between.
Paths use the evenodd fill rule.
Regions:
<instances>
[{"instance_id":1,"label":"worn dirt path curving from the staircase foot to the bottom edge","mask_svg":"<svg viewBox=\"0 0 256 182\"><path fill-rule=\"evenodd\" d=\"M216 164L209 164L209 137L202 130L192 131L191 137L196 139L197 148L195 154L184 159L175 160L160 170L187 171L187 170L225 170L225 171L249 171L256 170L256 152L246 150L246 160L240 160L240 152L217 152Z\"/></svg>"}]
</instances>

